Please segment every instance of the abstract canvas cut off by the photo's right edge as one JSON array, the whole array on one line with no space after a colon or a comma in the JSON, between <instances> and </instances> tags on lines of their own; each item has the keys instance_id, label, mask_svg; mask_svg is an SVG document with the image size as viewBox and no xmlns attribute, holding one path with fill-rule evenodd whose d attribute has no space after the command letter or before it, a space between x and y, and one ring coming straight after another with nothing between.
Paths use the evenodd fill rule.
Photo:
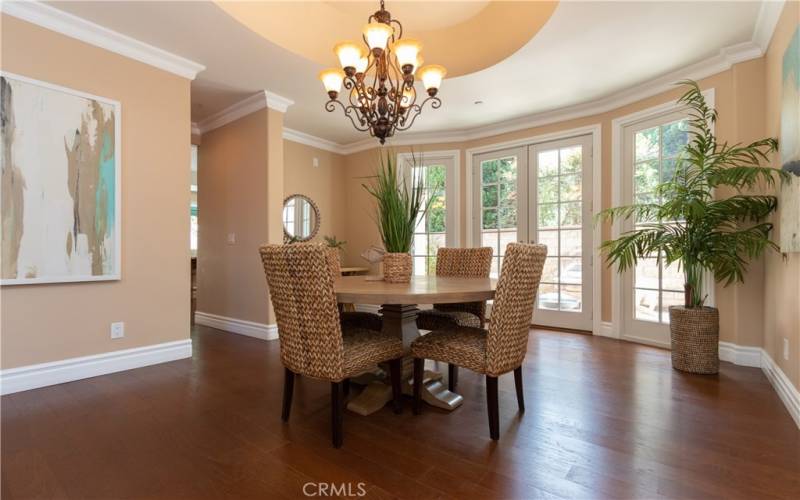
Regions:
<instances>
[{"instance_id":1,"label":"abstract canvas cut off by the photo's right edge","mask_svg":"<svg viewBox=\"0 0 800 500\"><path fill-rule=\"evenodd\" d=\"M783 54L781 168L792 182L781 189L781 251L800 252L800 28Z\"/></svg>"}]
</instances>

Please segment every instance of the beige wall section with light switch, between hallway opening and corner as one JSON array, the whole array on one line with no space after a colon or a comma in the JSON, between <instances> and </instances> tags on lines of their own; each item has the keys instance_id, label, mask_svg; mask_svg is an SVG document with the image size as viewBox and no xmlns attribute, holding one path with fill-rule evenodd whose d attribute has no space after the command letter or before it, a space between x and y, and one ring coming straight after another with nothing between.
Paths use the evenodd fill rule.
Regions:
<instances>
[{"instance_id":1,"label":"beige wall section with light switch, between hallway opening and corner","mask_svg":"<svg viewBox=\"0 0 800 500\"><path fill-rule=\"evenodd\" d=\"M269 239L267 111L204 134L197 166L197 310L257 323L269 322L258 255Z\"/></svg>"}]
</instances>

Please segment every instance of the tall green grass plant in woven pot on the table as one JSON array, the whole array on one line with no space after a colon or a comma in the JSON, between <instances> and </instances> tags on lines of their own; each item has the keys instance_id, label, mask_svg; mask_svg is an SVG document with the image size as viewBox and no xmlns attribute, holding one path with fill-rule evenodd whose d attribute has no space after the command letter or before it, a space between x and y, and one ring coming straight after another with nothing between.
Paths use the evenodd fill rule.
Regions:
<instances>
[{"instance_id":1,"label":"tall green grass plant in woven pot on the table","mask_svg":"<svg viewBox=\"0 0 800 500\"><path fill-rule=\"evenodd\" d=\"M397 168L395 155L386 151L380 156L378 171L371 182L362 184L375 198L375 221L386 249L383 256L383 279L389 283L411 281L411 244L419 217L425 215L434 196L424 196L422 169L412 168L406 182ZM417 159L413 157L413 166Z\"/></svg>"}]
</instances>

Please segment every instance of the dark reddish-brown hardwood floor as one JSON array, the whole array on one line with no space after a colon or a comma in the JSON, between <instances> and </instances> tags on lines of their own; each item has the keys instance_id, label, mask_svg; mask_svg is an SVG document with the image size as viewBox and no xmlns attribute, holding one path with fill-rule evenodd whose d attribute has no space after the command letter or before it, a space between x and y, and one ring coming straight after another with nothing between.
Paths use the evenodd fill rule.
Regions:
<instances>
[{"instance_id":1,"label":"dark reddish-brown hardwood floor","mask_svg":"<svg viewBox=\"0 0 800 500\"><path fill-rule=\"evenodd\" d=\"M499 381L500 441L483 376L462 369L461 408L345 412L335 450L328 383L297 378L281 422L277 342L201 326L194 340L191 360L4 396L3 499L297 498L309 482L369 498L800 498L800 431L758 369L686 375L666 351L536 330L524 414L513 375Z\"/></svg>"}]
</instances>

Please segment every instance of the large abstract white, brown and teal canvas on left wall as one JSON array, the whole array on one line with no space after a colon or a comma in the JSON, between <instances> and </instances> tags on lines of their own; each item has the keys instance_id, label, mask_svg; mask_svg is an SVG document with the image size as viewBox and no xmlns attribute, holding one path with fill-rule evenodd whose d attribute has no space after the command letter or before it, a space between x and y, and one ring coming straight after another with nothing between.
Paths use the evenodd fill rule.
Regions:
<instances>
[{"instance_id":1,"label":"large abstract white, brown and teal canvas on left wall","mask_svg":"<svg viewBox=\"0 0 800 500\"><path fill-rule=\"evenodd\" d=\"M0 76L0 284L120 278L120 104Z\"/></svg>"}]
</instances>

